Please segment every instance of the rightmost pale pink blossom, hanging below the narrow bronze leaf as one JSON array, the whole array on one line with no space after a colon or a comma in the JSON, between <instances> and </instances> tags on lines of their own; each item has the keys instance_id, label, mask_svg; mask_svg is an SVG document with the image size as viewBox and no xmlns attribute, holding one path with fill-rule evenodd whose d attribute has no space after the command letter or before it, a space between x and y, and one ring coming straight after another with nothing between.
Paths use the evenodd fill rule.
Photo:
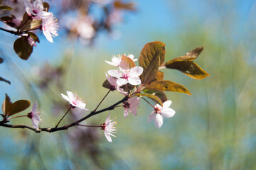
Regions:
<instances>
[{"instance_id":1,"label":"rightmost pale pink blossom, hanging below the narrow bronze leaf","mask_svg":"<svg viewBox=\"0 0 256 170\"><path fill-rule=\"evenodd\" d=\"M163 107L159 104L156 104L154 106L154 111L149 115L149 122L154 120L154 124L156 125L156 128L161 128L163 125L164 117L171 118L174 116L175 111L172 108L169 108L171 106L171 101L165 101L163 103Z\"/></svg>"}]
</instances>

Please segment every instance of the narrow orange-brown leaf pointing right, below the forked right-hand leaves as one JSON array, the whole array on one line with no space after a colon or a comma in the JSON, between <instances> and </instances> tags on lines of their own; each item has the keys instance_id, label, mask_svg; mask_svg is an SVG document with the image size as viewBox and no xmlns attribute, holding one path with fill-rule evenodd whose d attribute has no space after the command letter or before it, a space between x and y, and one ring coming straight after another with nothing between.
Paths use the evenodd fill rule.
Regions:
<instances>
[{"instance_id":1,"label":"narrow orange-brown leaf pointing right, below the forked right-hand leaves","mask_svg":"<svg viewBox=\"0 0 256 170\"><path fill-rule=\"evenodd\" d=\"M176 84L173 81L169 81L169 80L153 81L151 84L149 84L149 86L146 86L145 89L160 90L160 91L174 91L174 92L192 95L188 91L188 89L186 89L181 84Z\"/></svg>"}]
</instances>

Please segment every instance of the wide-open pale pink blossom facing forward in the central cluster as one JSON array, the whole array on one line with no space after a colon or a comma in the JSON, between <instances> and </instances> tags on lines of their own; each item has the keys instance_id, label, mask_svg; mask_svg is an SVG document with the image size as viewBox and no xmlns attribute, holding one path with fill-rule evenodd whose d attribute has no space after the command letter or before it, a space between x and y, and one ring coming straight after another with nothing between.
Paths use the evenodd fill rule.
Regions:
<instances>
[{"instance_id":1,"label":"wide-open pale pink blossom facing forward in the central cluster","mask_svg":"<svg viewBox=\"0 0 256 170\"><path fill-rule=\"evenodd\" d=\"M122 60L120 62L119 70L109 70L107 73L110 74L112 77L117 78L118 86L122 86L124 84L132 84L134 86L139 85L142 83L139 76L142 74L143 68L142 67L129 67L129 64Z\"/></svg>"}]
</instances>

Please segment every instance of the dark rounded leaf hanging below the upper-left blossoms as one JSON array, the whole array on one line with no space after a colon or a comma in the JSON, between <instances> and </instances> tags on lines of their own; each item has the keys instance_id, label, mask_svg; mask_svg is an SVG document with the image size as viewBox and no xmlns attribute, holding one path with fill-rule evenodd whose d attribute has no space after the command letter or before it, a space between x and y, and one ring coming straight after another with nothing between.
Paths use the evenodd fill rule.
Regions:
<instances>
[{"instance_id":1,"label":"dark rounded leaf hanging below the upper-left blossoms","mask_svg":"<svg viewBox=\"0 0 256 170\"><path fill-rule=\"evenodd\" d=\"M27 37L22 36L14 42L14 51L21 59L28 60L33 52L33 46L28 43Z\"/></svg>"}]
</instances>

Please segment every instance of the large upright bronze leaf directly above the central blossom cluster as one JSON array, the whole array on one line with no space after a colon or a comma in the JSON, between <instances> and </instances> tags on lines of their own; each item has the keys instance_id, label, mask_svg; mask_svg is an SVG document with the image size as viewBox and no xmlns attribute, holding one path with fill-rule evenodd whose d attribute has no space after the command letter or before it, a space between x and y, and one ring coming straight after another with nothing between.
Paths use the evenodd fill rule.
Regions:
<instances>
[{"instance_id":1,"label":"large upright bronze leaf directly above the central blossom cluster","mask_svg":"<svg viewBox=\"0 0 256 170\"><path fill-rule=\"evenodd\" d=\"M159 57L159 59L157 59L157 57ZM163 42L149 42L143 47L142 52L139 56L139 66L142 67L144 70L141 75L141 79L144 84L149 82L147 78L149 78L149 75L151 74L150 72L152 72L153 70L155 72L156 67L159 67L159 65L164 63L164 57L165 44ZM152 62L154 63L152 64ZM159 65L157 65L158 63ZM147 74L146 77L145 74Z\"/></svg>"}]
</instances>

